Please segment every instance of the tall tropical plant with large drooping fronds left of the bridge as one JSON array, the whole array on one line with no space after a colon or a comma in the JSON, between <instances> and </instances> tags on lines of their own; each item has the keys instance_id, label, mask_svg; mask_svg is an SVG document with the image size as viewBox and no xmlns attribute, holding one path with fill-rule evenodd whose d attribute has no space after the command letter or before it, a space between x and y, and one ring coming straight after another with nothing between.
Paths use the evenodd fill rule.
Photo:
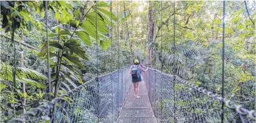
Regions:
<instances>
[{"instance_id":1,"label":"tall tropical plant with large drooping fronds left of the bridge","mask_svg":"<svg viewBox=\"0 0 256 123\"><path fill-rule=\"evenodd\" d=\"M96 41L96 16L98 27L97 43L102 49L107 49L110 42L106 36L109 33L107 25L111 26L110 20L115 21L114 16L111 18L112 13L103 9L104 7L110 7L105 2L97 3L97 13L96 5L93 3L83 16L80 16L79 9L72 10L68 3L55 1L55 4L57 3L60 5L58 11L55 13L55 19L59 25L52 27L51 30L53 33L49 35L49 37L52 37L52 40L49 42L49 51L52 68L51 77L54 83L54 97L58 97L59 88L66 91L64 88L70 90L69 85L76 87L73 81L82 83L82 79L74 67L76 66L81 70L85 70L85 66L82 65L80 59L89 59L81 46L92 46L92 41ZM79 3L76 5L81 6ZM70 13L71 11L73 13ZM69 31L65 28L66 26L73 27L75 30ZM44 43L38 57L41 60L46 59L46 54L46 43Z\"/></svg>"}]
</instances>

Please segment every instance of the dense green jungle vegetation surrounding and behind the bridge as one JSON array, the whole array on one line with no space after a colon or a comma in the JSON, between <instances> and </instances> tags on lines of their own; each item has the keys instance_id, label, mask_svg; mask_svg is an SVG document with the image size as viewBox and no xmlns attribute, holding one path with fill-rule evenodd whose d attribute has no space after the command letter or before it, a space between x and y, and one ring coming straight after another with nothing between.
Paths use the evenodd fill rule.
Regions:
<instances>
[{"instance_id":1,"label":"dense green jungle vegetation surrounding and behind the bridge","mask_svg":"<svg viewBox=\"0 0 256 123\"><path fill-rule=\"evenodd\" d=\"M221 1L176 1L175 13L174 1L163 1L163 9L160 1L99 1L97 14L94 1L47 1L47 12L45 4L1 1L1 122L95 77L97 44L101 75L142 52L148 67L160 69L163 60L164 72L221 93ZM224 93L247 109L255 109L255 8L255 1L226 1Z\"/></svg>"}]
</instances>

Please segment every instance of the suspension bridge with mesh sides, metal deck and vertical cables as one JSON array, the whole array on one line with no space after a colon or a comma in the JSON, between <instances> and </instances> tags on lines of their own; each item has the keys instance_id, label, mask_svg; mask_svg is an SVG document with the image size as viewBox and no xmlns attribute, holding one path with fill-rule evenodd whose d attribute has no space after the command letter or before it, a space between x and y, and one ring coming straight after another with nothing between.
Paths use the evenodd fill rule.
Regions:
<instances>
[{"instance_id":1,"label":"suspension bridge with mesh sides, metal deck and vertical cables","mask_svg":"<svg viewBox=\"0 0 256 123\"><path fill-rule=\"evenodd\" d=\"M223 61L224 40L222 50ZM222 88L223 63L224 61ZM98 76L97 70L97 77L8 122L255 122L254 110L248 110L225 99L223 92L222 96L219 96L193 85L175 75L175 72L174 75L166 74L163 68L161 71L149 69L143 74L138 93L140 98L136 98L129 71L130 68L118 69Z\"/></svg>"}]
</instances>

